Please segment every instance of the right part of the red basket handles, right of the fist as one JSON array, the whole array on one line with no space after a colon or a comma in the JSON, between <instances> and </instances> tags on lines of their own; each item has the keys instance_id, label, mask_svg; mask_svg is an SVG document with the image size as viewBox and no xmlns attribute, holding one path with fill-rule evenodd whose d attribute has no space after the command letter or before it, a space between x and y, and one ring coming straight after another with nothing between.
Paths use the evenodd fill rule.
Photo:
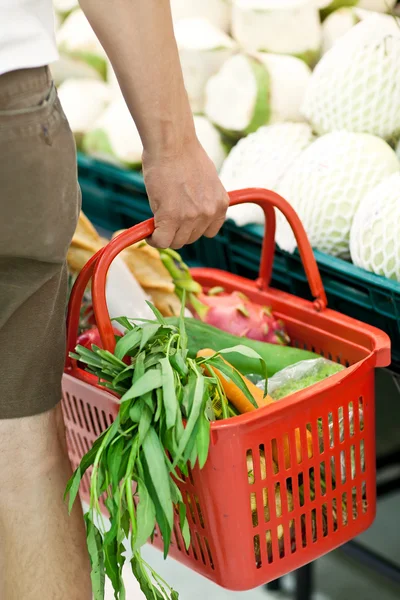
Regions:
<instances>
[{"instance_id":1,"label":"right part of the red basket handles, right of the fist","mask_svg":"<svg viewBox=\"0 0 400 600\"><path fill-rule=\"evenodd\" d=\"M303 224L293 207L275 192L264 190L262 188L250 188L246 190L238 190L231 192L231 206L236 204L251 203L258 204L265 213L265 236L261 252L261 265L259 286L262 290L266 290L271 282L272 267L275 254L275 212L274 208L287 219L294 236L297 241L297 246L300 252L304 270L307 275L311 293L314 298L314 306L317 311L326 308L328 301L322 283L321 275L318 269L317 261L315 260L314 252L308 240ZM267 210L267 208L269 210ZM273 213L273 217L271 215ZM271 226L272 225L272 226Z\"/></svg>"}]
</instances>

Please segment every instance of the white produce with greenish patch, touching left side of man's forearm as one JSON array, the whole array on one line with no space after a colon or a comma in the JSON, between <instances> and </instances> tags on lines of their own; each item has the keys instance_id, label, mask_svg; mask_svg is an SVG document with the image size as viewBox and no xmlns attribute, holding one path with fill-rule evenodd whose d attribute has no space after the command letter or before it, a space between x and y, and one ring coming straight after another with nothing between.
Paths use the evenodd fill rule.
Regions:
<instances>
[{"instance_id":1,"label":"white produce with greenish patch, touching left side of man's forearm","mask_svg":"<svg viewBox=\"0 0 400 600\"><path fill-rule=\"evenodd\" d=\"M122 96L112 101L85 135L83 149L86 154L117 166L140 168L142 141Z\"/></svg>"}]
</instances>

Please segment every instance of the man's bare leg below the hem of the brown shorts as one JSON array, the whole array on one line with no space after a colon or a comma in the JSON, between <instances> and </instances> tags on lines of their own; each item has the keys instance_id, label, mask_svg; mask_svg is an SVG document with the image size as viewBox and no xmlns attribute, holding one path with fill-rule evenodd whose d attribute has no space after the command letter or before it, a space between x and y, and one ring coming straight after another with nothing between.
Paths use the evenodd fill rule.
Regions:
<instances>
[{"instance_id":1,"label":"man's bare leg below the hem of the brown shorts","mask_svg":"<svg viewBox=\"0 0 400 600\"><path fill-rule=\"evenodd\" d=\"M90 600L79 503L62 502L71 467L61 407L0 421L2 600Z\"/></svg>"}]
</instances>

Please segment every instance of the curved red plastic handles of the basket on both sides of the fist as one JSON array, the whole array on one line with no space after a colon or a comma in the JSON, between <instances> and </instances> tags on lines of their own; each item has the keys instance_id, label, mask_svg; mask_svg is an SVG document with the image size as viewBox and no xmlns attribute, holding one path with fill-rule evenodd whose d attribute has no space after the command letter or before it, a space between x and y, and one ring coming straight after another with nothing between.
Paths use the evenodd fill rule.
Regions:
<instances>
[{"instance_id":1,"label":"curved red plastic handles of the basket on both sides of the fist","mask_svg":"<svg viewBox=\"0 0 400 600\"><path fill-rule=\"evenodd\" d=\"M230 204L252 203L258 204L265 213L268 235L264 236L261 255L260 276L257 281L260 289L267 289L271 281L272 266L275 252L276 219L274 208L279 209L288 220L296 237L301 259L307 279L314 297L317 311L323 310L327 305L325 290L322 284L318 266L308 241L304 227L290 204L278 194L261 188L252 188L230 192ZM105 296L106 278L108 269L114 258L123 250L140 242L154 232L154 219L149 219L131 229L122 232L111 240L107 246L99 250L80 272L71 293L67 316L67 357L76 345L79 327L80 307L85 289L92 278L92 301L96 323L99 328L103 347L110 352L115 348L113 327L107 310ZM68 358L67 358L68 361Z\"/></svg>"}]
</instances>

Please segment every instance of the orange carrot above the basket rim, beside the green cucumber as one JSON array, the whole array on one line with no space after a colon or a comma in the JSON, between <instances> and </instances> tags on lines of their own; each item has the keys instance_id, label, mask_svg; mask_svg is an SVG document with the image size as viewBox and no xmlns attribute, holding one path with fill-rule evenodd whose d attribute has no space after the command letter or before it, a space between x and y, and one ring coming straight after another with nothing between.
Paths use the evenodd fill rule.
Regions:
<instances>
[{"instance_id":1,"label":"orange carrot above the basket rim, beside the green cucumber","mask_svg":"<svg viewBox=\"0 0 400 600\"><path fill-rule=\"evenodd\" d=\"M210 356L214 356L214 354L215 354L214 350L205 348L204 350L200 350L197 353L197 357L198 358L209 358ZM222 358L222 356L221 356L221 358ZM227 365L229 365L229 363L224 358L222 358L222 360ZM232 369L234 369L234 367L232 367L232 365L229 365L229 366ZM238 388L237 385L235 385L232 381L228 381L224 377L224 375L221 373L221 371L219 371L215 367L212 367L212 369L213 369L215 375L218 377L219 382L222 386L222 389L224 390L224 392L226 394L226 397L231 402L231 404L233 404L233 406L241 414L257 410L256 407L253 406L253 404L251 404L251 402L249 402L249 400L246 398L246 396L244 395L242 390L240 388ZM239 371L237 369L234 369L234 370L236 371L236 373L238 375L240 375L240 377L246 384L247 389L249 390L250 394L253 396L258 408L262 408L263 406L267 406L268 404L271 404L272 402L274 402L270 396L265 396L265 398L264 398L264 393L262 390L260 390L260 388L258 388L256 385L254 385L254 383L252 381L250 381L249 379L244 377L241 373L239 373Z\"/></svg>"}]
</instances>

